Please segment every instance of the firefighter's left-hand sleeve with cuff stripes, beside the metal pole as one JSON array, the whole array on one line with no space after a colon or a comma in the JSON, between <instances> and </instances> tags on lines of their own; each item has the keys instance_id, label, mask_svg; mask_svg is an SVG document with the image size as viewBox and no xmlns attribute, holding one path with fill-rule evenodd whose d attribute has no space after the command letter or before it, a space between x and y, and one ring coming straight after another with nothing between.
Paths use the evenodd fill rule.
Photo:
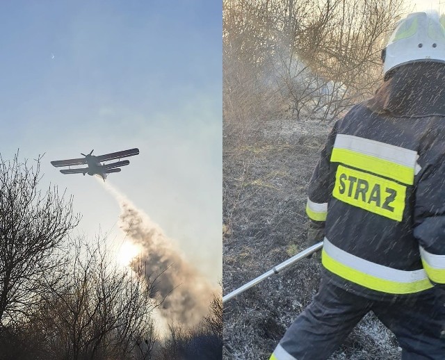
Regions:
<instances>
[{"instance_id":1,"label":"firefighter's left-hand sleeve with cuff stripes, beside the metal pole","mask_svg":"<svg viewBox=\"0 0 445 360\"><path fill-rule=\"evenodd\" d=\"M327 202L330 198L330 156L337 135L337 123L327 137L320 158L309 181L306 213L309 217L307 245L312 246L325 237Z\"/></svg>"}]
</instances>

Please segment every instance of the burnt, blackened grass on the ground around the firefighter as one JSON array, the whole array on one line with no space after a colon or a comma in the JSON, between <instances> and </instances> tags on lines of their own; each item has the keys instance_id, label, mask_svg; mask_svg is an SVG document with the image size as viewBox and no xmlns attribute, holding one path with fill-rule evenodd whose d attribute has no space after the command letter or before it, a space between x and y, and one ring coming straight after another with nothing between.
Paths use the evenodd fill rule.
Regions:
<instances>
[{"instance_id":1,"label":"burnt, blackened grass on the ground around the firefighter","mask_svg":"<svg viewBox=\"0 0 445 360\"><path fill-rule=\"evenodd\" d=\"M227 295L306 248L307 183L331 124L269 122L223 140L223 289ZM245 136L248 133L248 136ZM303 259L224 304L224 359L269 359L318 290L321 264ZM401 359L369 313L330 359Z\"/></svg>"}]
</instances>

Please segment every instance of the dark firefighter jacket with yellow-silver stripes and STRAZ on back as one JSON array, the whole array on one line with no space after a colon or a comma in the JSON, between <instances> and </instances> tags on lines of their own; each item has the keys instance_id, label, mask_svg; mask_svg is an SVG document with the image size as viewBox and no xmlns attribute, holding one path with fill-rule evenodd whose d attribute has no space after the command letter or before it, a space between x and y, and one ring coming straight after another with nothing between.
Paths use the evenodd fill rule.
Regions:
<instances>
[{"instance_id":1,"label":"dark firefighter jacket with yellow-silver stripes and STRAZ on back","mask_svg":"<svg viewBox=\"0 0 445 360\"><path fill-rule=\"evenodd\" d=\"M445 284L445 65L396 69L334 124L309 183L322 263L366 297Z\"/></svg>"}]
</instances>

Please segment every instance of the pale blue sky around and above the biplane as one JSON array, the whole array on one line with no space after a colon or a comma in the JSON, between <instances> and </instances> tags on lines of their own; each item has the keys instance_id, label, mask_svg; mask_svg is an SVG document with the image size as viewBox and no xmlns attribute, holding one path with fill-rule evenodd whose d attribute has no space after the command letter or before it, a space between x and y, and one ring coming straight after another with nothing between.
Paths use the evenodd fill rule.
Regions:
<instances>
[{"instance_id":1,"label":"pale blue sky around and above the biplane","mask_svg":"<svg viewBox=\"0 0 445 360\"><path fill-rule=\"evenodd\" d=\"M138 147L107 181L221 277L222 3L2 1L0 152L74 195L78 231L119 237L117 202L49 161ZM113 232L114 231L114 232Z\"/></svg>"}]
</instances>

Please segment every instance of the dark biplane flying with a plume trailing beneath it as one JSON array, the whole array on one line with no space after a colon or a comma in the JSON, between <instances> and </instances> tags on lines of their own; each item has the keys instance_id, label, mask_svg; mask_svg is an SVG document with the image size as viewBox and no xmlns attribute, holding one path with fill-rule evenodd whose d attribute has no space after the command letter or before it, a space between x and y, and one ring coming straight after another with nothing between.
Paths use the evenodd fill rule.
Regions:
<instances>
[{"instance_id":1,"label":"dark biplane flying with a plume trailing beneath it","mask_svg":"<svg viewBox=\"0 0 445 360\"><path fill-rule=\"evenodd\" d=\"M88 167L78 167L74 169L63 169L60 170L62 174L88 174L88 175L99 175L102 179L106 179L106 175L111 172L120 172L120 167L129 165L128 160L122 160L121 158L127 158L128 156L134 156L139 154L139 149L129 149L122 152L112 152L111 154L104 154L95 156L92 155L94 149L91 150L90 154L82 154L83 158L72 158L69 160L57 160L51 161L51 164L55 167L62 166L76 166L76 165L88 165ZM115 163L105 164L104 161L118 160Z\"/></svg>"}]
</instances>

